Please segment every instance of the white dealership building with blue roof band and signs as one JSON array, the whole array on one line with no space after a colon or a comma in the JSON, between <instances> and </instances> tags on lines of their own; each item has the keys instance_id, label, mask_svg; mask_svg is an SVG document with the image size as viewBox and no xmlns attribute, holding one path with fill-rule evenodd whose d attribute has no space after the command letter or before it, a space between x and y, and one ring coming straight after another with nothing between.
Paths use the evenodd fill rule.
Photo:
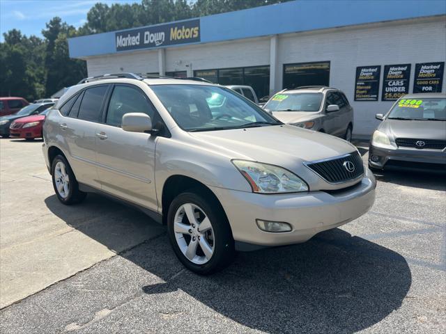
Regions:
<instances>
[{"instance_id":1,"label":"white dealership building with blue roof band and signs","mask_svg":"<svg viewBox=\"0 0 446 334\"><path fill-rule=\"evenodd\" d=\"M144 72L252 86L332 86L367 137L399 96L445 92L446 1L290 1L70 38L89 76Z\"/></svg>"}]
</instances>

